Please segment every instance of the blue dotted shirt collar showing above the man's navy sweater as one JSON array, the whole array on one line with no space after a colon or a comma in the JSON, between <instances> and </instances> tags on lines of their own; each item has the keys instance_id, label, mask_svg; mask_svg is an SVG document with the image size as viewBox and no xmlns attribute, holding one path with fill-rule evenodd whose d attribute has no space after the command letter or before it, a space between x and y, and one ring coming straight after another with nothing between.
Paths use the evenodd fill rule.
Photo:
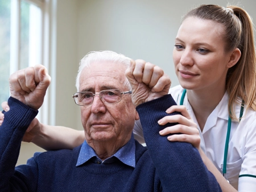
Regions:
<instances>
[{"instance_id":1,"label":"blue dotted shirt collar showing above the man's navy sweater","mask_svg":"<svg viewBox=\"0 0 256 192\"><path fill-rule=\"evenodd\" d=\"M109 164L113 163L116 159L122 161L122 163L135 168L135 140L133 134L131 134L131 139L123 147L121 147L114 155L108 157L102 161L94 152L93 148L88 145L86 140L82 143L82 147L77 159L76 167L82 165L89 161L90 159L97 164Z\"/></svg>"}]
</instances>

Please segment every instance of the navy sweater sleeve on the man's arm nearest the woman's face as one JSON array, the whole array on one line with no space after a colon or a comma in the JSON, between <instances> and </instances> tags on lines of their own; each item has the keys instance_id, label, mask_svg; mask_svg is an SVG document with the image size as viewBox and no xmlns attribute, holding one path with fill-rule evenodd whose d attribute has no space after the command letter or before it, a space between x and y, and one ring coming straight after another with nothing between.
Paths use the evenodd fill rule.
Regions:
<instances>
[{"instance_id":1,"label":"navy sweater sleeve on the man's arm nearest the woman's face","mask_svg":"<svg viewBox=\"0 0 256 192\"><path fill-rule=\"evenodd\" d=\"M137 106L151 159L159 174L163 191L221 191L216 178L205 167L199 152L190 143L169 142L159 131L176 123L160 126L158 120L166 109L176 105L171 95L160 97Z\"/></svg>"}]
</instances>

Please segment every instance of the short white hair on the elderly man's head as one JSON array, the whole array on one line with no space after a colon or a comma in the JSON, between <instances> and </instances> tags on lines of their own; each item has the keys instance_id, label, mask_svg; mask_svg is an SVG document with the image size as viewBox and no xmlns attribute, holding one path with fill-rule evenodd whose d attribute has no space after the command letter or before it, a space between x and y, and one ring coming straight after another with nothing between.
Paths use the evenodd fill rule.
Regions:
<instances>
[{"instance_id":1,"label":"short white hair on the elderly man's head","mask_svg":"<svg viewBox=\"0 0 256 192\"><path fill-rule=\"evenodd\" d=\"M84 58L81 59L79 64L80 65L79 71L76 76L76 88L78 92L79 92L79 86L80 86L80 82L79 82L80 75L84 67L90 68L91 67L90 63L94 63L94 62L99 63L99 62L105 62L105 61L119 63L120 65L124 65L127 69L130 66L131 59L128 57L125 57L123 54L118 54L110 50L104 50L101 52L89 52L88 54L86 54L86 56L84 56ZM126 86L127 88L129 88L129 90L131 90L129 80L127 78L125 78L124 86Z\"/></svg>"}]
</instances>

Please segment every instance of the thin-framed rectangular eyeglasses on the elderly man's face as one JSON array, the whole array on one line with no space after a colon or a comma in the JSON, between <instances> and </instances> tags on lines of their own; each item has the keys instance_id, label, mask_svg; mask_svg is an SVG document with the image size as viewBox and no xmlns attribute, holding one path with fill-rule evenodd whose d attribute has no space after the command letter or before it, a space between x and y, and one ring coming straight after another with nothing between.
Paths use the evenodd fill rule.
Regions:
<instances>
[{"instance_id":1,"label":"thin-framed rectangular eyeglasses on the elderly man's face","mask_svg":"<svg viewBox=\"0 0 256 192\"><path fill-rule=\"evenodd\" d=\"M93 103L95 95L99 95L101 101L105 104L114 104L121 101L124 94L131 94L131 91L121 92L119 89L109 89L100 91L97 94L93 92L77 92L72 97L77 105L85 106Z\"/></svg>"}]
</instances>

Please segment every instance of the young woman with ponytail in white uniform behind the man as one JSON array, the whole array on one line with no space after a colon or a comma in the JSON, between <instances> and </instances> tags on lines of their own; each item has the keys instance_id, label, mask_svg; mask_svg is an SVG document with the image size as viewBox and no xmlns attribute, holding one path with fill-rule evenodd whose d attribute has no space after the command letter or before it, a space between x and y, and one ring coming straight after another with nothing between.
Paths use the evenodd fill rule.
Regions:
<instances>
[{"instance_id":1,"label":"young woman with ponytail in white uniform behind the man","mask_svg":"<svg viewBox=\"0 0 256 192\"><path fill-rule=\"evenodd\" d=\"M171 142L192 143L223 191L254 191L256 58L250 16L236 6L202 5L189 11L177 32L173 58L180 86L171 88L170 93L178 105L169 108L167 113L179 111L183 116L159 120L160 125L179 123L160 134L172 134L168 136ZM142 62L136 66L138 78L145 65L146 62ZM31 131L39 130L39 133L31 133L25 139L44 148L52 148L57 140L62 140L64 145L57 147L72 148L84 139L83 132L69 129L61 131L68 134L61 138L49 132L44 135L45 130L57 129L49 130L37 120L34 123L31 128L38 129ZM143 142L139 122L134 134ZM47 138L52 140L52 146L44 142Z\"/></svg>"}]
</instances>

